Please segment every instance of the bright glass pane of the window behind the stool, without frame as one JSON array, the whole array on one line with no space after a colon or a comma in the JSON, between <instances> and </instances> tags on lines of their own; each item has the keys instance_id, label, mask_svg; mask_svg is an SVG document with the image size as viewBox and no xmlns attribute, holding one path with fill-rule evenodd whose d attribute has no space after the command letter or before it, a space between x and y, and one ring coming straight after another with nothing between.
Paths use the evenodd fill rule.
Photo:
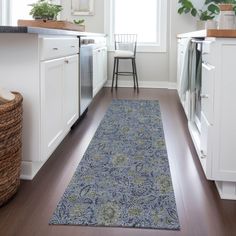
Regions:
<instances>
[{"instance_id":1,"label":"bright glass pane of the window behind the stool, without frame","mask_svg":"<svg viewBox=\"0 0 236 236\"><path fill-rule=\"evenodd\" d=\"M157 0L114 0L114 33L134 33L140 43L157 43L158 4Z\"/></svg>"}]
</instances>

